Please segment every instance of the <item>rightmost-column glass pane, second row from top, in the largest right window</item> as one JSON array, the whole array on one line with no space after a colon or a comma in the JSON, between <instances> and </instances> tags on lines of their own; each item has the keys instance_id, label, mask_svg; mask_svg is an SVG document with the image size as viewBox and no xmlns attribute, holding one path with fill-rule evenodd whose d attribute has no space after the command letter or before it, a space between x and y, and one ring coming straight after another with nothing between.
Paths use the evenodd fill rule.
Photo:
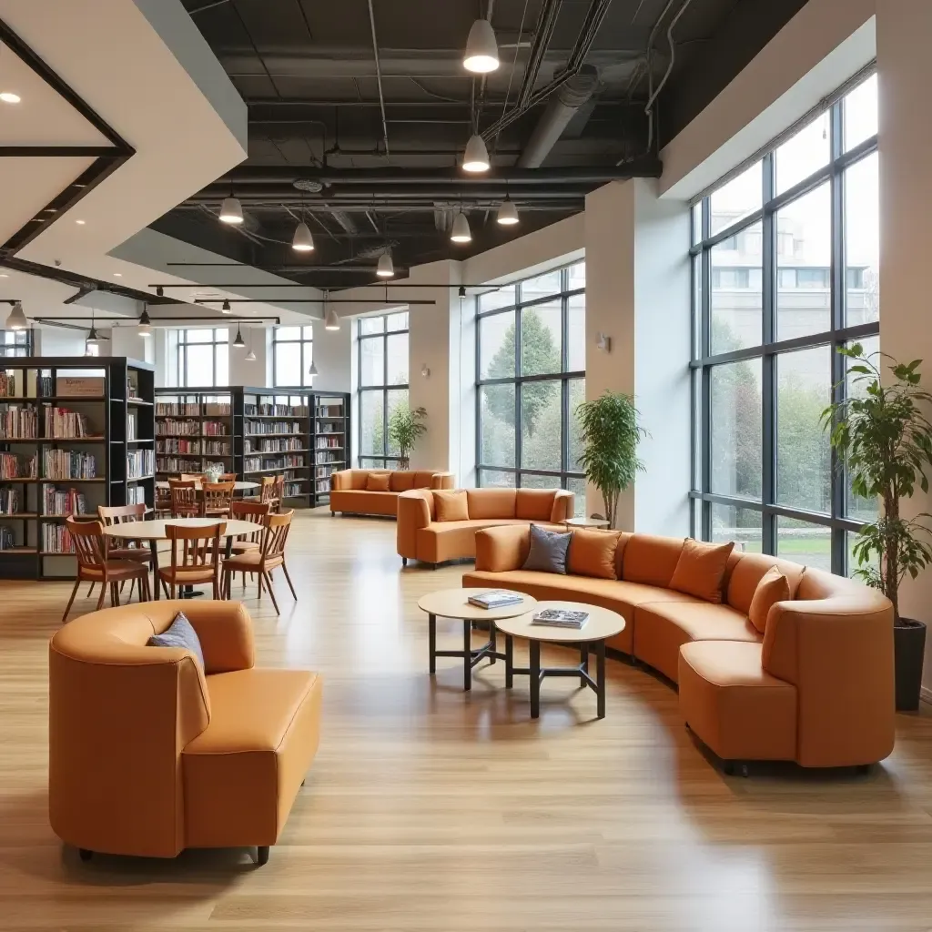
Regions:
<instances>
[{"instance_id":1,"label":"rightmost-column glass pane, second row from top, in the largest right window","mask_svg":"<svg viewBox=\"0 0 932 932\"><path fill-rule=\"evenodd\" d=\"M880 320L880 198L877 153L844 172L846 320Z\"/></svg>"}]
</instances>

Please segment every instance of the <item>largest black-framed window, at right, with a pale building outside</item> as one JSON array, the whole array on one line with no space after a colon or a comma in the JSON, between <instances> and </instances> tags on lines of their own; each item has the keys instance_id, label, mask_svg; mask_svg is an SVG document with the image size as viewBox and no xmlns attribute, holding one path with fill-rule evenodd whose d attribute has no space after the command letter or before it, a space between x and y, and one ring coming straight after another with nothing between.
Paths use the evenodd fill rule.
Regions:
<instances>
[{"instance_id":1,"label":"largest black-framed window, at right, with a pale building outside","mask_svg":"<svg viewBox=\"0 0 932 932\"><path fill-rule=\"evenodd\" d=\"M877 78L692 209L693 534L833 572L877 514L819 423L879 348Z\"/></svg>"}]
</instances>

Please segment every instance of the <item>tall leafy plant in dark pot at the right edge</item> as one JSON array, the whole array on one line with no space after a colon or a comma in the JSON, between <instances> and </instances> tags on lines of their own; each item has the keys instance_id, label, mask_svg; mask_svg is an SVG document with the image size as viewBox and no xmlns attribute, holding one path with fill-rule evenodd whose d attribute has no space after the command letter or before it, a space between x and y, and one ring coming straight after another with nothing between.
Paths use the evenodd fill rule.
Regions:
<instances>
[{"instance_id":1,"label":"tall leafy plant in dark pot at the right edge","mask_svg":"<svg viewBox=\"0 0 932 932\"><path fill-rule=\"evenodd\" d=\"M932 562L930 531L921 520L932 515L905 518L900 503L917 486L928 491L932 422L924 410L932 404L932 394L920 387L922 360L897 363L885 353L865 353L859 343L838 351L853 363L848 367L849 397L829 404L822 421L831 428L831 445L847 468L854 494L882 505L880 517L858 532L854 575L893 603L897 708L914 711L922 687L925 624L900 615L899 586ZM892 363L887 368L893 378L887 384L882 358Z\"/></svg>"}]
</instances>

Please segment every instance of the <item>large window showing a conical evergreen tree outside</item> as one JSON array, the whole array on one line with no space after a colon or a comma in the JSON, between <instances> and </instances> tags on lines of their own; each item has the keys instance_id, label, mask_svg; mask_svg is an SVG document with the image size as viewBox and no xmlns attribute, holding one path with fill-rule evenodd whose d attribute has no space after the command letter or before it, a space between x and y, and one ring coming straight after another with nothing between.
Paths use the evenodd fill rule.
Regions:
<instances>
[{"instance_id":1,"label":"large window showing a conical evergreen tree outside","mask_svg":"<svg viewBox=\"0 0 932 932\"><path fill-rule=\"evenodd\" d=\"M480 295L477 330L478 484L569 488L583 514L585 264Z\"/></svg>"}]
</instances>

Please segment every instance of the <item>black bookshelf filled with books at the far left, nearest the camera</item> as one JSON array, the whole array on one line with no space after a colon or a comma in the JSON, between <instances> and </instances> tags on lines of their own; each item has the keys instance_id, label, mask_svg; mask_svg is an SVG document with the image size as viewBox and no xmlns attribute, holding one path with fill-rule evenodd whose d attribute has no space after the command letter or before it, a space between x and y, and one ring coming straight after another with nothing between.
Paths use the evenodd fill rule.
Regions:
<instances>
[{"instance_id":1,"label":"black bookshelf filled with books at the far left, nearest the camera","mask_svg":"<svg viewBox=\"0 0 932 932\"><path fill-rule=\"evenodd\" d=\"M0 363L0 578L74 579L69 514L154 504L154 391L125 357Z\"/></svg>"}]
</instances>

